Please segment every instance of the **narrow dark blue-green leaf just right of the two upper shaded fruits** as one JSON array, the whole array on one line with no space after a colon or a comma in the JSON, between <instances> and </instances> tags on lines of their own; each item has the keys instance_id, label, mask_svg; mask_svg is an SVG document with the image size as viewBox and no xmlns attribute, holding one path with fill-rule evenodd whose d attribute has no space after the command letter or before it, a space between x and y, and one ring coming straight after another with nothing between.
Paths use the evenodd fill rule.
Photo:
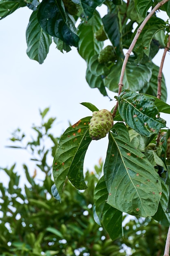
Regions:
<instances>
[{"instance_id":1,"label":"narrow dark blue-green leaf just right of the two upper shaded fruits","mask_svg":"<svg viewBox=\"0 0 170 256\"><path fill-rule=\"evenodd\" d=\"M119 27L119 19L117 13L108 13L102 18L104 30L106 31L108 38L115 47L116 52L121 49L121 34Z\"/></svg>"}]
</instances>

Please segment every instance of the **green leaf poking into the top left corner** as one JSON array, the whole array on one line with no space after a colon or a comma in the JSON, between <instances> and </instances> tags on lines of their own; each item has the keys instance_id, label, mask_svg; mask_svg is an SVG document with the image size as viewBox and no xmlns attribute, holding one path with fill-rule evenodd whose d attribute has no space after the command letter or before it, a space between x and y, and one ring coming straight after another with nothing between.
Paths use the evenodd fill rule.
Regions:
<instances>
[{"instance_id":1,"label":"green leaf poking into the top left corner","mask_svg":"<svg viewBox=\"0 0 170 256\"><path fill-rule=\"evenodd\" d=\"M18 8L24 7L24 6L26 6L26 4L22 0L15 0L15 1L1 0L0 1L0 20L10 15Z\"/></svg>"}]
</instances>

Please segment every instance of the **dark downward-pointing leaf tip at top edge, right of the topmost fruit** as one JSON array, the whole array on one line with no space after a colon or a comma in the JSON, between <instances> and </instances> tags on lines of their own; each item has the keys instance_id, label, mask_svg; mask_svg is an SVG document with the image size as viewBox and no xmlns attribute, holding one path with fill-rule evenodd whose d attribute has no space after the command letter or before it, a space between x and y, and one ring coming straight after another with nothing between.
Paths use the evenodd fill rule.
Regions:
<instances>
[{"instance_id":1,"label":"dark downward-pointing leaf tip at top edge, right of the topmost fruit","mask_svg":"<svg viewBox=\"0 0 170 256\"><path fill-rule=\"evenodd\" d=\"M72 0L72 2L80 5L80 7L82 8L84 18L86 20L89 20L93 16L96 7L101 5L104 2L104 0Z\"/></svg>"}]
</instances>

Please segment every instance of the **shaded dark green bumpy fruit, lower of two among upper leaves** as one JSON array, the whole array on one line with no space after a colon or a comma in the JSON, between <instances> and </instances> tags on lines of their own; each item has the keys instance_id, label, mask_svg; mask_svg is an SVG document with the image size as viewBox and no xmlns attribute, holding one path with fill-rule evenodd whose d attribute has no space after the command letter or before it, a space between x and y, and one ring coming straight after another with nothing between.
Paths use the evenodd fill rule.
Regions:
<instances>
[{"instance_id":1,"label":"shaded dark green bumpy fruit, lower of two among upper leaves","mask_svg":"<svg viewBox=\"0 0 170 256\"><path fill-rule=\"evenodd\" d=\"M101 50L98 56L99 63L108 63L110 61L115 62L117 56L112 45L107 45L104 49Z\"/></svg>"}]
</instances>

